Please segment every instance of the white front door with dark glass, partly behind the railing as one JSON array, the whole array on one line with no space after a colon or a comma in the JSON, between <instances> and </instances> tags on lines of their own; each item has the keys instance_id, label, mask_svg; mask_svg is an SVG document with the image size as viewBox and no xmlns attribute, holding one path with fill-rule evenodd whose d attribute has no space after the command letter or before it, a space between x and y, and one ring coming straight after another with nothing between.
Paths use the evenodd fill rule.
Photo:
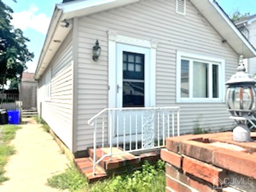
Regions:
<instances>
[{"instance_id":1,"label":"white front door with dark glass, partly behind the railing","mask_svg":"<svg viewBox=\"0 0 256 192\"><path fill-rule=\"evenodd\" d=\"M116 44L116 107L150 107L149 82L150 49ZM134 141L136 131L137 139L140 140L141 113L130 110L117 111L114 136L117 137L118 134L120 140Z\"/></svg>"}]
</instances>

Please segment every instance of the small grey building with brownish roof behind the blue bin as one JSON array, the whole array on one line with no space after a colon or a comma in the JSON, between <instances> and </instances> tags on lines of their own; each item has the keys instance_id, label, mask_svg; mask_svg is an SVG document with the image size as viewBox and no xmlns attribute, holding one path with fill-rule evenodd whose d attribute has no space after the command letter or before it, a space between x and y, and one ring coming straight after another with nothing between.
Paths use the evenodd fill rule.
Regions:
<instances>
[{"instance_id":1,"label":"small grey building with brownish roof behind the blue bin","mask_svg":"<svg viewBox=\"0 0 256 192\"><path fill-rule=\"evenodd\" d=\"M34 79L35 73L23 72L19 83L20 101L23 109L37 108L37 82Z\"/></svg>"}]
</instances>

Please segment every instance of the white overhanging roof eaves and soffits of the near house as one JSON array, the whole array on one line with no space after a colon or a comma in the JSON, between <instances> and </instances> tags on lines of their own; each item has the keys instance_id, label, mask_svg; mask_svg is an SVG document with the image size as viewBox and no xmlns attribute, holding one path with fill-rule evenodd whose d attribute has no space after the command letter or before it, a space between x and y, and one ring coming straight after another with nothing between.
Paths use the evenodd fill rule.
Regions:
<instances>
[{"instance_id":1,"label":"white overhanging roof eaves and soffits of the near house","mask_svg":"<svg viewBox=\"0 0 256 192\"><path fill-rule=\"evenodd\" d=\"M72 28L72 18L132 4L141 0L64 0L56 4L44 42L35 79L40 78ZM190 0L237 54L255 57L256 50L215 0ZM68 23L68 24L67 24Z\"/></svg>"}]
</instances>

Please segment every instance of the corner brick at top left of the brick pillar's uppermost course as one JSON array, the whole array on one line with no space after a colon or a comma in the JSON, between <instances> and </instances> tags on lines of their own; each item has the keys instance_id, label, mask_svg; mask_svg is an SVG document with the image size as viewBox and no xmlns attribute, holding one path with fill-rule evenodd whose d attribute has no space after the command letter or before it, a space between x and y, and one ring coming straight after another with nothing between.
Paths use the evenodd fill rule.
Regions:
<instances>
[{"instance_id":1,"label":"corner brick at top left of the brick pillar's uppermost course","mask_svg":"<svg viewBox=\"0 0 256 192\"><path fill-rule=\"evenodd\" d=\"M193 139L199 139L202 138L202 136L200 135L182 135L179 137L169 137L166 139L166 148L169 151L172 151L174 153L178 153L179 152L179 144L180 141L184 141L184 140L193 140Z\"/></svg>"}]
</instances>

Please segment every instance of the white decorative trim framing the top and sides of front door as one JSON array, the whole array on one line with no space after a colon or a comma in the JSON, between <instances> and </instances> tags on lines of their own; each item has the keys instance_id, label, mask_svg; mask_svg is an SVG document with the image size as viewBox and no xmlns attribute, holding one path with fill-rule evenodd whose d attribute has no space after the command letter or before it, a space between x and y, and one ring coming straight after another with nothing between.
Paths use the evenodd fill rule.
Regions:
<instances>
[{"instance_id":1,"label":"white decorative trim framing the top and sides of front door","mask_svg":"<svg viewBox=\"0 0 256 192\"><path fill-rule=\"evenodd\" d=\"M150 49L150 106L156 107L156 48L157 40L138 39L108 31L108 107L116 107L116 43L146 47Z\"/></svg>"}]
</instances>

